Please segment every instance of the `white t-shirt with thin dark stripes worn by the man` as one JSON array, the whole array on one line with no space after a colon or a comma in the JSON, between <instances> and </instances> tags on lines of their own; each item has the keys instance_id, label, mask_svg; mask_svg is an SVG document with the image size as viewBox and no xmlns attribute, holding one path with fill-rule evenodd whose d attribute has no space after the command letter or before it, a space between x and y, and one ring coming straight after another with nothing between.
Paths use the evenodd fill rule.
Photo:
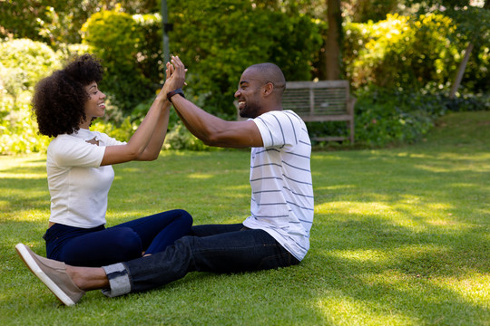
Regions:
<instances>
[{"instance_id":1,"label":"white t-shirt with thin dark stripes worn by the man","mask_svg":"<svg viewBox=\"0 0 490 326\"><path fill-rule=\"evenodd\" d=\"M264 147L251 149L251 216L243 225L266 231L302 260L314 212L308 130L292 110L270 111L253 121Z\"/></svg>"}]
</instances>

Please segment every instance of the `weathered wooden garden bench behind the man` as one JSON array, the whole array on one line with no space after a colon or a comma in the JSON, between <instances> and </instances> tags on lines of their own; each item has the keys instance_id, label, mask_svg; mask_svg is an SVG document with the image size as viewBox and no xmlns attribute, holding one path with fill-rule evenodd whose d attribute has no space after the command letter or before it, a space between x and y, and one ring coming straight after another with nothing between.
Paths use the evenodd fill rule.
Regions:
<instances>
[{"instance_id":1,"label":"weathered wooden garden bench behind the man","mask_svg":"<svg viewBox=\"0 0 490 326\"><path fill-rule=\"evenodd\" d=\"M354 144L354 104L348 81L286 82L282 109L293 110L305 122L346 121L348 137L313 137L317 141L342 141ZM238 113L238 102L235 101ZM238 120L243 120L238 114Z\"/></svg>"}]
</instances>

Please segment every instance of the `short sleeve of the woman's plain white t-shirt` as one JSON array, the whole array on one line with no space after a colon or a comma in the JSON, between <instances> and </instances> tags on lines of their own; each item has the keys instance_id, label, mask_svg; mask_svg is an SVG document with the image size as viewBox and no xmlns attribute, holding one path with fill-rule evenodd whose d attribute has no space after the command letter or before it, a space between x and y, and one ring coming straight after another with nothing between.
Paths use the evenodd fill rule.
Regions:
<instances>
[{"instance_id":1,"label":"short sleeve of the woman's plain white t-shirt","mask_svg":"<svg viewBox=\"0 0 490 326\"><path fill-rule=\"evenodd\" d=\"M99 168L103 160L104 146L87 143L83 139L56 139L50 146L54 163L60 168Z\"/></svg>"}]
</instances>

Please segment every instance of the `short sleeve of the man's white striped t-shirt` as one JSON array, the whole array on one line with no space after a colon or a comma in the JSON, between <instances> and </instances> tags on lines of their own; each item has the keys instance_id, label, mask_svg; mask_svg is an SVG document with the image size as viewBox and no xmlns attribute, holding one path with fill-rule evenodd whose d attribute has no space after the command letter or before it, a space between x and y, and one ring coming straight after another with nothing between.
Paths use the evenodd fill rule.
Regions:
<instances>
[{"instance_id":1,"label":"short sleeve of the man's white striped t-shirt","mask_svg":"<svg viewBox=\"0 0 490 326\"><path fill-rule=\"evenodd\" d=\"M264 148L296 145L299 141L301 121L285 111L270 111L253 120L260 130Z\"/></svg>"}]
</instances>

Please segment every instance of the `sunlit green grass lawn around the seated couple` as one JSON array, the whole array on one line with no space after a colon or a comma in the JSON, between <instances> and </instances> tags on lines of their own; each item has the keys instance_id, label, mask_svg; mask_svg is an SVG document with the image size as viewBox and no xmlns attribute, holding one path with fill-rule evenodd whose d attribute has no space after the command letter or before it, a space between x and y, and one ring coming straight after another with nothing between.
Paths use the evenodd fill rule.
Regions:
<instances>
[{"instance_id":1,"label":"sunlit green grass lawn around the seated couple","mask_svg":"<svg viewBox=\"0 0 490 326\"><path fill-rule=\"evenodd\" d=\"M151 292L64 307L17 258L45 254L43 156L0 157L0 324L490 325L490 112L444 117L426 141L314 152L315 221L298 266L190 273ZM248 151L164 152L115 166L108 225L185 208L241 222Z\"/></svg>"}]
</instances>

